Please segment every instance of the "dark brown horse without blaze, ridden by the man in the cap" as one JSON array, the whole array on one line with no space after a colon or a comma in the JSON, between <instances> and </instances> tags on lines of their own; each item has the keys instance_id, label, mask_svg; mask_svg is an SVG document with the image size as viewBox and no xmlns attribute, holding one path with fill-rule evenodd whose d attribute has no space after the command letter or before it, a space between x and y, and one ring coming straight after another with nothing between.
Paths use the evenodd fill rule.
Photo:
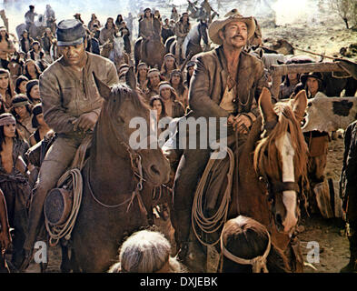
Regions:
<instances>
[{"instance_id":1,"label":"dark brown horse without blaze, ridden by the man in the cap","mask_svg":"<svg viewBox=\"0 0 357 291\"><path fill-rule=\"evenodd\" d=\"M77 271L107 271L116 261L124 236L148 225L142 185L160 186L168 181L170 166L160 148L134 150L129 146L135 131L129 125L133 117L141 117L150 126L149 108L132 89L136 88L133 68L130 72L131 87L111 89L94 76L104 104L82 171L83 197L71 238L72 267Z\"/></svg>"}]
</instances>

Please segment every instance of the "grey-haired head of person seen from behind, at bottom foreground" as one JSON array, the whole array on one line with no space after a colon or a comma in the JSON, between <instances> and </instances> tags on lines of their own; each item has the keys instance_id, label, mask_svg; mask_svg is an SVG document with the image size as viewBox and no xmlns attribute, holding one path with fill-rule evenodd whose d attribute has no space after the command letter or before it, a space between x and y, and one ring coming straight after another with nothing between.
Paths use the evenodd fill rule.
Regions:
<instances>
[{"instance_id":1,"label":"grey-haired head of person seen from behind, at bottom foreground","mask_svg":"<svg viewBox=\"0 0 357 291\"><path fill-rule=\"evenodd\" d=\"M124 241L119 263L108 273L185 273L183 265L170 255L171 245L163 234L142 230Z\"/></svg>"}]
</instances>

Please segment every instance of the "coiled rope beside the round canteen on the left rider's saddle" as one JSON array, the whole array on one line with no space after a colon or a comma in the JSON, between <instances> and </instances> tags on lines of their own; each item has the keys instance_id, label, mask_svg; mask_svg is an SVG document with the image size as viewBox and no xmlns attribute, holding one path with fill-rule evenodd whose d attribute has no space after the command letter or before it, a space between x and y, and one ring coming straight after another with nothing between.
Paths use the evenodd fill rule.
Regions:
<instances>
[{"instance_id":1,"label":"coiled rope beside the round canteen on the left rider's saddle","mask_svg":"<svg viewBox=\"0 0 357 291\"><path fill-rule=\"evenodd\" d=\"M73 168L64 173L63 176L58 181L57 185L62 185L67 180L68 177L72 178L73 181L73 193L74 200L73 206L68 219L63 225L53 226L47 219L45 219L45 227L50 236L49 244L50 246L56 246L62 237L66 240L71 238L72 230L74 228L74 223L81 206L82 194L83 194L83 178L81 171L78 168Z\"/></svg>"}]
</instances>

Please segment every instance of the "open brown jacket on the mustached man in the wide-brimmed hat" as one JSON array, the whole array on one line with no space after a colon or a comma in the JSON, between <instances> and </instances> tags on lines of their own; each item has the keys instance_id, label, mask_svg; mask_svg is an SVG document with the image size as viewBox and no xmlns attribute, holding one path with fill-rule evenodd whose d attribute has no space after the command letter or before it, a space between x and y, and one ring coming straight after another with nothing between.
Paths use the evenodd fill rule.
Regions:
<instances>
[{"instance_id":1,"label":"open brown jacket on the mustached man in the wide-brimmed hat","mask_svg":"<svg viewBox=\"0 0 357 291\"><path fill-rule=\"evenodd\" d=\"M196 68L189 90L189 104L196 115L206 117L228 117L228 111L220 107L227 85L227 61L223 46L197 56ZM264 75L263 62L253 55L241 52L237 75L237 94L235 103L237 113L253 112L259 115L257 104L263 87L268 87ZM253 100L255 98L255 101Z\"/></svg>"}]
</instances>

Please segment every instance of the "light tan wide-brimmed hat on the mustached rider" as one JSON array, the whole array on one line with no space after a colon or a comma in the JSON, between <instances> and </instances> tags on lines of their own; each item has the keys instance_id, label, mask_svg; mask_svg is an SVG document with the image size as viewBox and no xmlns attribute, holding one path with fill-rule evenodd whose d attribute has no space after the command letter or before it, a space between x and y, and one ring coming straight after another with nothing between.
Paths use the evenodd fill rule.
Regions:
<instances>
[{"instance_id":1,"label":"light tan wide-brimmed hat on the mustached rider","mask_svg":"<svg viewBox=\"0 0 357 291\"><path fill-rule=\"evenodd\" d=\"M238 13L238 11L234 11L232 14L227 14L229 16L223 19L214 20L213 23L208 27L208 35L210 36L212 42L216 45L222 45L222 39L219 35L219 31L229 23L233 21L240 21L247 25L248 28L248 39L254 35L255 31L255 21L252 16L243 17Z\"/></svg>"}]
</instances>

